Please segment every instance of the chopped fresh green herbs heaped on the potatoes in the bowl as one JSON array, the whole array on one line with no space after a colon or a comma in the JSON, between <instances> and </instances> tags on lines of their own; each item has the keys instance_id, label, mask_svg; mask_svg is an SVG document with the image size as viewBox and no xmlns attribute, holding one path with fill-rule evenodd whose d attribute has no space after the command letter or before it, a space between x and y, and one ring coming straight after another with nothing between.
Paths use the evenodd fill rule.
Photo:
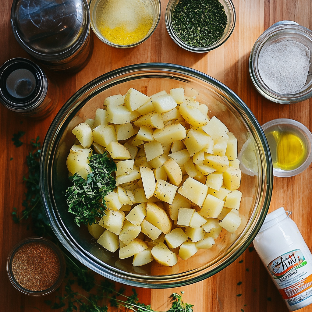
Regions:
<instances>
[{"instance_id":1,"label":"chopped fresh green herbs heaped on the potatoes in the bowl","mask_svg":"<svg viewBox=\"0 0 312 312\"><path fill-rule=\"evenodd\" d=\"M80 226L96 223L96 217L105 213L104 197L115 188L116 181L111 175L117 170L114 161L104 154L93 154L89 157L89 166L92 171L87 180L75 173L69 179L74 183L66 189L68 211L76 215L74 221Z\"/></svg>"}]
</instances>

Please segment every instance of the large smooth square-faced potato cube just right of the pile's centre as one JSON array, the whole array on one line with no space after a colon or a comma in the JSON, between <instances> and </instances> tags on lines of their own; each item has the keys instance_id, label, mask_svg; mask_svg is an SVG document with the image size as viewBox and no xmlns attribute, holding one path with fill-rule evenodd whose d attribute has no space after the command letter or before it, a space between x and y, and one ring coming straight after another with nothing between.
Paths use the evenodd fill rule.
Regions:
<instances>
[{"instance_id":1,"label":"large smooth square-faced potato cube just right of the pile's centre","mask_svg":"<svg viewBox=\"0 0 312 312\"><path fill-rule=\"evenodd\" d=\"M188 198L193 203L202 207L204 200L206 199L208 192L207 185L198 182L193 178L187 178L181 188L178 189L178 193Z\"/></svg>"}]
</instances>

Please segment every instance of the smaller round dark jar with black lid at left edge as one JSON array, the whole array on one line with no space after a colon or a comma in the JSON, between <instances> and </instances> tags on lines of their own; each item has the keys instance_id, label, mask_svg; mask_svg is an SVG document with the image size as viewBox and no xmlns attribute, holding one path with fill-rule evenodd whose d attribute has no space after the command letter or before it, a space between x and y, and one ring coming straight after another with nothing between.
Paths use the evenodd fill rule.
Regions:
<instances>
[{"instance_id":1,"label":"smaller round dark jar with black lid at left edge","mask_svg":"<svg viewBox=\"0 0 312 312\"><path fill-rule=\"evenodd\" d=\"M46 97L46 74L34 62L17 57L0 67L0 102L18 113L37 109Z\"/></svg>"}]
</instances>

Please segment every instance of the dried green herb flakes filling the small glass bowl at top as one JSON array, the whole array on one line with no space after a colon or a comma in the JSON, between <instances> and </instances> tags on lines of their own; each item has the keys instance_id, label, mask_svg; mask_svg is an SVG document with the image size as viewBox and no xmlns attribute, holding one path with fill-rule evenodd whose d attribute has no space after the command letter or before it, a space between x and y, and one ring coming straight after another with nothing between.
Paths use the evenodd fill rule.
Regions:
<instances>
[{"instance_id":1,"label":"dried green herb flakes filling the small glass bowl at top","mask_svg":"<svg viewBox=\"0 0 312 312\"><path fill-rule=\"evenodd\" d=\"M219 0L180 0L171 19L176 35L196 47L211 46L227 26L227 15Z\"/></svg>"}]
</instances>

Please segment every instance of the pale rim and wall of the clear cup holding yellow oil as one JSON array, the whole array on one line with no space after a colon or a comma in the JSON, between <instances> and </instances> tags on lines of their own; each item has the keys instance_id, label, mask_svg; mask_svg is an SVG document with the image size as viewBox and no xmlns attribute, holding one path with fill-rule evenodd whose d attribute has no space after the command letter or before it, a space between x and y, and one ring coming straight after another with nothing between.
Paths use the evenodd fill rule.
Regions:
<instances>
[{"instance_id":1,"label":"pale rim and wall of the clear cup holding yellow oil","mask_svg":"<svg viewBox=\"0 0 312 312\"><path fill-rule=\"evenodd\" d=\"M274 119L271 121L266 122L262 125L262 129L264 133L266 133L266 130L274 129L276 126L278 126L279 129L293 129L294 132L302 134L302 137L305 139L305 144L307 148L307 155L305 161L297 168L292 170L283 170L279 168L274 168L273 163L273 175L275 177L293 177L302 171L304 171L306 168L309 167L310 163L312 162L312 134L310 130L303 124L301 124L297 120L293 119L286 119L286 118L280 118L280 119ZM270 149L272 149L272 143L270 139L268 139L268 144ZM276 147L275 147L276 148ZM272 152L271 152L272 154ZM272 157L273 160L273 157Z\"/></svg>"}]
</instances>

